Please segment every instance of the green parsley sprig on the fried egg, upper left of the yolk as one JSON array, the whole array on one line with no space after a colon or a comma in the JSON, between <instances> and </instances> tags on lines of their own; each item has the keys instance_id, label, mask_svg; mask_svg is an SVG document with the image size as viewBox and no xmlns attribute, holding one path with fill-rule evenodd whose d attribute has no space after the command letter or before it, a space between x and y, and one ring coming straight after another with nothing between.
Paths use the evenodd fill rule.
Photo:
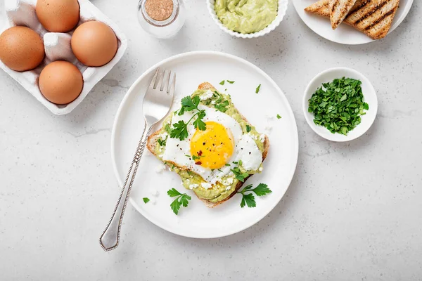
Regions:
<instances>
[{"instance_id":1,"label":"green parsley sprig on the fried egg, upper left of the yolk","mask_svg":"<svg viewBox=\"0 0 422 281\"><path fill-rule=\"evenodd\" d=\"M198 108L199 105L199 97L194 96L186 96L181 99L181 109L179 110L178 115L184 115L186 111L193 111L198 110L191 119L187 123L183 120L179 120L179 122L173 124L173 129L170 131L170 138L179 138L180 141L183 141L185 138L188 137L188 124L191 122L193 118L193 126L195 129L199 129L200 131L205 131L206 124L203 122L203 118L205 117L205 110L200 110Z\"/></svg>"}]
</instances>

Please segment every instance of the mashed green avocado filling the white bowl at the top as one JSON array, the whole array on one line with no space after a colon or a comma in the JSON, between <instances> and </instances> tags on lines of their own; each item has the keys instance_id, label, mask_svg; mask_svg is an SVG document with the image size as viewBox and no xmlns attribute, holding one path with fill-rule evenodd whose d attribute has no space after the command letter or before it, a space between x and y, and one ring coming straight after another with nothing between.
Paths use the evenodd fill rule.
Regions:
<instances>
[{"instance_id":1,"label":"mashed green avocado filling the white bowl at the top","mask_svg":"<svg viewBox=\"0 0 422 281\"><path fill-rule=\"evenodd\" d=\"M277 15L277 0L215 0L219 20L229 30L254 33L267 27Z\"/></svg>"}]
</instances>

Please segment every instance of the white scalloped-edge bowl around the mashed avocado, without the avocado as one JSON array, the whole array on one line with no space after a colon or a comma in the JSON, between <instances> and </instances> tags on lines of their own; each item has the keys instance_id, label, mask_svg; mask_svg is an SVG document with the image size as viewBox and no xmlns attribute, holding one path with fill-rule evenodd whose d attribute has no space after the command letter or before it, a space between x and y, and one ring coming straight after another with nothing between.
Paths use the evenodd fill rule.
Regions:
<instances>
[{"instance_id":1,"label":"white scalloped-edge bowl around the mashed avocado, without the avocado","mask_svg":"<svg viewBox=\"0 0 422 281\"><path fill-rule=\"evenodd\" d=\"M288 6L288 0L279 0L279 9L277 11L277 16L273 20L273 22L271 22L271 24L269 24L267 27L265 27L263 30L260 30L259 32L243 34L243 33L235 32L233 30L229 30L225 25L222 24L222 22L217 17L217 14L215 13L214 3L215 3L215 0L207 0L207 7L208 7L208 11L210 12L211 18L219 26L219 28L222 29L224 32L238 38L257 38L275 30L276 27L280 25L280 22L281 20L283 20L284 15L286 15L287 6Z\"/></svg>"}]
</instances>

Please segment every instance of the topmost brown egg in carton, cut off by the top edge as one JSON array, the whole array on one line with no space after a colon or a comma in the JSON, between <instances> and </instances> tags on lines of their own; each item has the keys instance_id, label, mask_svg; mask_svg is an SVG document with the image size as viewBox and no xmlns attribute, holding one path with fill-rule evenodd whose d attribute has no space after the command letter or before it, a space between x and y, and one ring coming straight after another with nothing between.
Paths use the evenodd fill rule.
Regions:
<instances>
[{"instance_id":1,"label":"topmost brown egg in carton, cut off by the top edge","mask_svg":"<svg viewBox=\"0 0 422 281\"><path fill-rule=\"evenodd\" d=\"M79 22L77 0L38 0L35 12L49 32L69 32Z\"/></svg>"}]
</instances>

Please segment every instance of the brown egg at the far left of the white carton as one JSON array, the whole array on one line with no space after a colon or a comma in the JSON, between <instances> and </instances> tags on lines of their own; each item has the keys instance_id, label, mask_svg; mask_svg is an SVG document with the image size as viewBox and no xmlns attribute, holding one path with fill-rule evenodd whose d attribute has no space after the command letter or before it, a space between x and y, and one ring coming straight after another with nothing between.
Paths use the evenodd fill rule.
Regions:
<instances>
[{"instance_id":1,"label":"brown egg at the far left of the white carton","mask_svg":"<svg viewBox=\"0 0 422 281\"><path fill-rule=\"evenodd\" d=\"M44 55L41 37L28 27L11 27L0 35L0 60L12 70L33 70Z\"/></svg>"}]
</instances>

